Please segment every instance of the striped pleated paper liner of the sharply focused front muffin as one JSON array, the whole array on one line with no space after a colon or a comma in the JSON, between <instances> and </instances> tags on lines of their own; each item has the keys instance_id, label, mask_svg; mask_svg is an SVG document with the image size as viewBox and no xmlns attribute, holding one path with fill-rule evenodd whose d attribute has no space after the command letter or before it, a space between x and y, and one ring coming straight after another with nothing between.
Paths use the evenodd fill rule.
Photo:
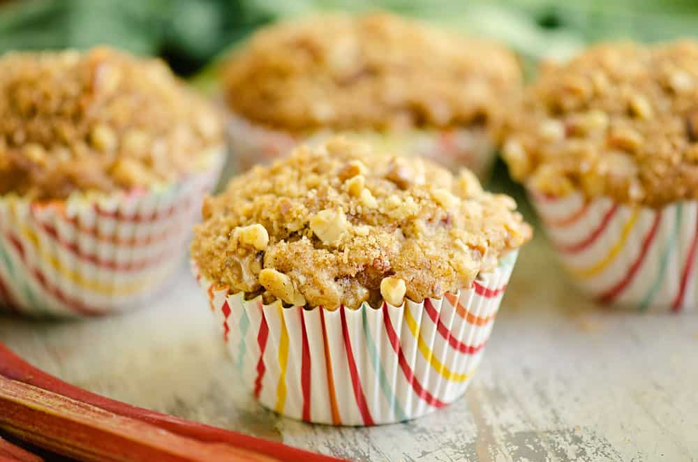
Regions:
<instances>
[{"instance_id":1,"label":"striped pleated paper liner of the sharply focused front muffin","mask_svg":"<svg viewBox=\"0 0 698 462\"><path fill-rule=\"evenodd\" d=\"M232 364L262 405L306 422L390 424L465 392L516 258L510 253L471 288L443 299L379 309L283 308L198 280Z\"/></svg>"}]
</instances>

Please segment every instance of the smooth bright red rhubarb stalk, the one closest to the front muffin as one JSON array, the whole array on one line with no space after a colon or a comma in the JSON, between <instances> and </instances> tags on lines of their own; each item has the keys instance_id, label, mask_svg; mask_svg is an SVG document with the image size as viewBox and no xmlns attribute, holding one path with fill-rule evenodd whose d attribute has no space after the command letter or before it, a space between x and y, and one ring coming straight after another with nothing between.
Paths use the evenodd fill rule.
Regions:
<instances>
[{"instance_id":1,"label":"smooth bright red rhubarb stalk, the one closest to the front muffin","mask_svg":"<svg viewBox=\"0 0 698 462\"><path fill-rule=\"evenodd\" d=\"M15 355L5 345L0 343L0 375L34 385L54 394L72 398L75 401L92 405L95 408L110 412L120 417L128 417L145 424L157 426L159 429L174 433L175 435L191 438L200 442L223 443L231 447L247 449L257 454L264 454L281 460L299 460L304 462L338 461L333 457L314 454L302 449L283 445L279 442L263 440L233 431L218 429L214 426L188 422L178 417L162 414L133 405L114 401L104 396L86 392L83 389L69 385L38 368L31 366L23 359Z\"/></svg>"}]
</instances>

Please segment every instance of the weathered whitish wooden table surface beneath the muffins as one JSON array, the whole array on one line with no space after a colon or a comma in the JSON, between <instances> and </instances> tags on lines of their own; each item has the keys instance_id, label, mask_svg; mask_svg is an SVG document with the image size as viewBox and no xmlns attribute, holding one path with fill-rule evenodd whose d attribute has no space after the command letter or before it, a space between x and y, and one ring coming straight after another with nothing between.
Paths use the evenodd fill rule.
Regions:
<instances>
[{"instance_id":1,"label":"weathered whitish wooden table surface beneath the muffins","mask_svg":"<svg viewBox=\"0 0 698 462\"><path fill-rule=\"evenodd\" d=\"M278 417L240 389L186 264L160 301L82 322L0 318L0 341L94 392L368 461L698 461L698 315L600 311L539 236L521 253L466 395L373 428Z\"/></svg>"}]
</instances>

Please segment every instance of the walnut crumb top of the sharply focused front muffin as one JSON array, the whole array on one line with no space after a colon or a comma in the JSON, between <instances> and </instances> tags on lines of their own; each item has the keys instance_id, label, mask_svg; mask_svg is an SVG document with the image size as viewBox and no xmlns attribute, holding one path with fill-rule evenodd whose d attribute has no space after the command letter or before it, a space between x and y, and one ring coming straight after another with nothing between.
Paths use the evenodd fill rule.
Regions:
<instances>
[{"instance_id":1,"label":"walnut crumb top of the sharply focused front muffin","mask_svg":"<svg viewBox=\"0 0 698 462\"><path fill-rule=\"evenodd\" d=\"M468 170L335 137L232 179L191 251L207 279L267 303L399 305L470 287L530 239L515 208Z\"/></svg>"}]
</instances>

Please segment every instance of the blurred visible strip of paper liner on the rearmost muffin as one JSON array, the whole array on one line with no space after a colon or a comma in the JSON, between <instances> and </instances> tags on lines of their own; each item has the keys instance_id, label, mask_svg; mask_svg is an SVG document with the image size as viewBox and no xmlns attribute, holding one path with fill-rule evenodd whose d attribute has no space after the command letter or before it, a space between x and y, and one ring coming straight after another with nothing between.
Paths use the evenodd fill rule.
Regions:
<instances>
[{"instance_id":1,"label":"blurred visible strip of paper liner on the rearmost muffin","mask_svg":"<svg viewBox=\"0 0 698 462\"><path fill-rule=\"evenodd\" d=\"M299 139L290 133L252 124L242 117L230 116L228 136L232 148L230 163L223 177L244 172L258 163L269 163L288 154L299 142L320 142L332 131L320 131ZM380 149L401 154L431 158L451 170L468 167L480 179L486 179L496 150L483 128L462 128L449 131L406 131L403 133L341 132L370 142Z\"/></svg>"}]
</instances>

